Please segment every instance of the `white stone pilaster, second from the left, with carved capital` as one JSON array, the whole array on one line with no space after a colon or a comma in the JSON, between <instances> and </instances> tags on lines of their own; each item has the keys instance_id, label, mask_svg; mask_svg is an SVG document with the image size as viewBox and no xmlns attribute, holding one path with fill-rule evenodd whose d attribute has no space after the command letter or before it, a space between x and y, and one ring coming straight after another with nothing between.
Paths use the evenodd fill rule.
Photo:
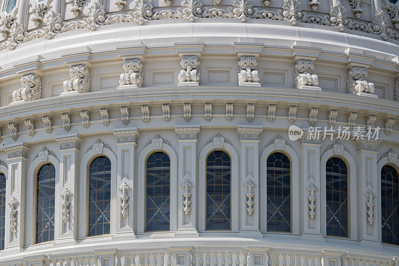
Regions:
<instances>
[{"instance_id":1,"label":"white stone pilaster, second from the left, with carved capital","mask_svg":"<svg viewBox=\"0 0 399 266\"><path fill-rule=\"evenodd\" d=\"M55 206L60 208L56 208L55 214L55 239L74 241L78 231L78 154L82 137L73 133L56 136L54 139L59 143L60 153L59 178L55 188Z\"/></svg>"}]
</instances>

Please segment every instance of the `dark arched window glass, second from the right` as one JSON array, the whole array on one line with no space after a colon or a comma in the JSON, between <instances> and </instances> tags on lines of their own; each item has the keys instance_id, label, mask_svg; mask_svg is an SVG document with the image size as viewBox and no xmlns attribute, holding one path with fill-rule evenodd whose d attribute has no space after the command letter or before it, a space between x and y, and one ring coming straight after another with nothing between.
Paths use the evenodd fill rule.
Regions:
<instances>
[{"instance_id":1,"label":"dark arched window glass, second from the right","mask_svg":"<svg viewBox=\"0 0 399 266\"><path fill-rule=\"evenodd\" d=\"M326 163L327 236L348 237L348 168L332 157Z\"/></svg>"}]
</instances>

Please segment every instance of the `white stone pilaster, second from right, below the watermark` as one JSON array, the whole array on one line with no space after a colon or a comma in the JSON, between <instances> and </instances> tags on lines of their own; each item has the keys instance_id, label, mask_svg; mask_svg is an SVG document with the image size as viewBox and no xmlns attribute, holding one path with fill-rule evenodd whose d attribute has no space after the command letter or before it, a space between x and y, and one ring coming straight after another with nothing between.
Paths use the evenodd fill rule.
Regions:
<instances>
[{"instance_id":1,"label":"white stone pilaster, second from right, below the watermark","mask_svg":"<svg viewBox=\"0 0 399 266\"><path fill-rule=\"evenodd\" d=\"M300 152L300 231L303 237L319 235L320 228L320 139L301 139Z\"/></svg>"}]
</instances>

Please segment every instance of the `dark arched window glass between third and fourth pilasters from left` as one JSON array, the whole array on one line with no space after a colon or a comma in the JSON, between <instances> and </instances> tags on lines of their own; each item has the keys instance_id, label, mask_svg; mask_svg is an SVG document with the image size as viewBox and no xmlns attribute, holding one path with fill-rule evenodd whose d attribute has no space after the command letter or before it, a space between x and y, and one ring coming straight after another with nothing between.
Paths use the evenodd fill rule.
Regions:
<instances>
[{"instance_id":1,"label":"dark arched window glass between third and fourth pilasters from left","mask_svg":"<svg viewBox=\"0 0 399 266\"><path fill-rule=\"evenodd\" d=\"M171 160L154 152L146 162L146 232L170 231Z\"/></svg>"}]
</instances>

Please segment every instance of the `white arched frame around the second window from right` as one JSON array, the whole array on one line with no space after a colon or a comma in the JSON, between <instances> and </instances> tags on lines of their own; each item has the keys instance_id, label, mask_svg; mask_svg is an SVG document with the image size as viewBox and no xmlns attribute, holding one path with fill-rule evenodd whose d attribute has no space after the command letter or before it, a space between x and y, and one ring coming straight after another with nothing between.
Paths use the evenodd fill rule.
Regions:
<instances>
[{"instance_id":1,"label":"white arched frame around the second window from right","mask_svg":"<svg viewBox=\"0 0 399 266\"><path fill-rule=\"evenodd\" d=\"M357 184L357 166L356 161L352 157L352 155L342 149L341 153L337 153L334 148L331 148L324 152L320 159L320 206L321 206L321 214L320 214L320 221L321 221L321 234L324 237L327 237L326 232L326 163L328 159L332 157L338 157L342 159L347 168L348 168L348 239L357 239L357 224L358 224L358 192L356 190ZM363 195L363 194L362 194ZM351 212L355 212L355 214L351 215ZM328 238L339 238L340 237L331 237Z\"/></svg>"}]
</instances>

